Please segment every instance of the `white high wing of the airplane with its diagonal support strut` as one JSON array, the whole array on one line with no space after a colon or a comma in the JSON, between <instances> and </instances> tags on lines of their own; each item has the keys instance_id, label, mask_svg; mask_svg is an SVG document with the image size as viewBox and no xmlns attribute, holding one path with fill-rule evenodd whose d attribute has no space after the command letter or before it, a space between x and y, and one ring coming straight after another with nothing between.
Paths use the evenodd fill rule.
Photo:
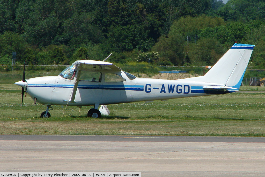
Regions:
<instances>
[{"instance_id":1,"label":"white high wing of the airplane with its diagonal support strut","mask_svg":"<svg viewBox=\"0 0 265 177\"><path fill-rule=\"evenodd\" d=\"M78 70L108 70L108 71L121 71L121 68L117 67L113 63L109 62L102 62L102 61L95 61L95 60L78 60L75 61L73 64L77 67ZM74 83L72 96L69 102L74 102L74 98L76 96L76 90L79 82L80 72L77 72L76 81Z\"/></svg>"}]
</instances>

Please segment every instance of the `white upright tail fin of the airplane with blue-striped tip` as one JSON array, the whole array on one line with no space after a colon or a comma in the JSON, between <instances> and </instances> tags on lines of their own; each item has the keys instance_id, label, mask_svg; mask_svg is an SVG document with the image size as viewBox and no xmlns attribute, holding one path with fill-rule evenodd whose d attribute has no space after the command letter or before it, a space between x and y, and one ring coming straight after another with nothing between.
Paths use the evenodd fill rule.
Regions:
<instances>
[{"instance_id":1,"label":"white upright tail fin of the airplane with blue-striped tip","mask_svg":"<svg viewBox=\"0 0 265 177\"><path fill-rule=\"evenodd\" d=\"M193 80L239 89L254 46L235 43L204 76Z\"/></svg>"}]
</instances>

